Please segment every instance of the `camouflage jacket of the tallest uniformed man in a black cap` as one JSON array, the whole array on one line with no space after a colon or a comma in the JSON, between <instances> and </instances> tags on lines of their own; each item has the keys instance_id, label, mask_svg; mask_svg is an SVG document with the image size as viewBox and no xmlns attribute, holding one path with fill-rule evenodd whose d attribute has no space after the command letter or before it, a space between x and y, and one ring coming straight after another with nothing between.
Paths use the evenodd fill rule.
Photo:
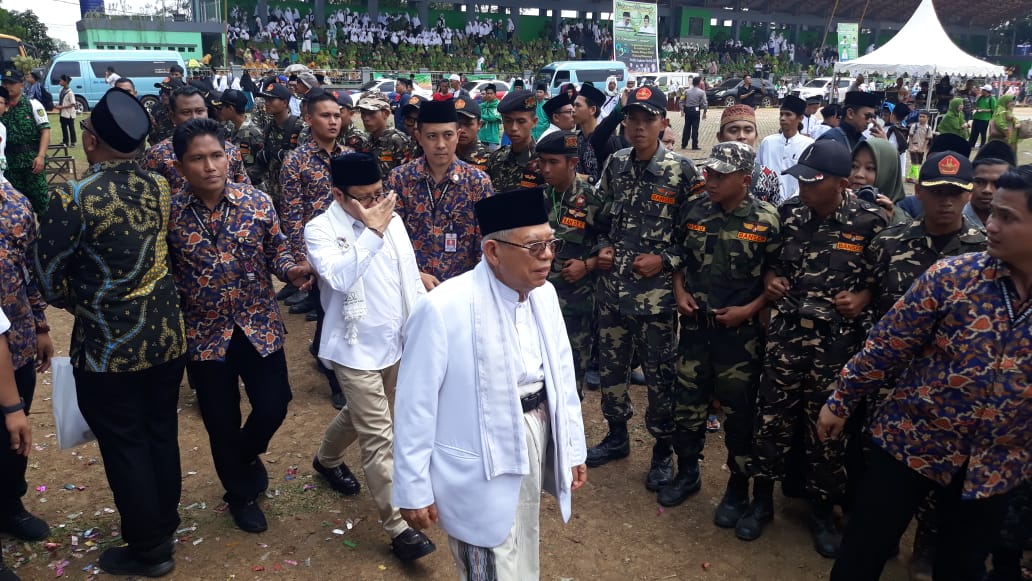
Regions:
<instances>
[{"instance_id":1,"label":"camouflage jacket of the tallest uniformed man in a black cap","mask_svg":"<svg viewBox=\"0 0 1032 581\"><path fill-rule=\"evenodd\" d=\"M681 205L705 182L691 160L660 146L644 163L634 149L620 150L602 170L598 193L599 248L613 247L613 267L600 277L599 300L624 315L659 315L675 308L673 272L684 258L684 231L676 227ZM634 271L640 254L663 259L663 271L643 278Z\"/></svg>"}]
</instances>

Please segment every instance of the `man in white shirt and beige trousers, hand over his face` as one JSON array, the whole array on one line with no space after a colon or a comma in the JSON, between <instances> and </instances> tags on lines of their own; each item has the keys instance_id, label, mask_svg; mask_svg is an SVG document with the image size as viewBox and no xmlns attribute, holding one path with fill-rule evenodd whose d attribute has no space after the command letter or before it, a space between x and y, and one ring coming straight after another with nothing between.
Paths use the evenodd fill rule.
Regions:
<instances>
[{"instance_id":1,"label":"man in white shirt and beige trousers, hand over his face","mask_svg":"<svg viewBox=\"0 0 1032 581\"><path fill-rule=\"evenodd\" d=\"M344 463L345 451L357 441L391 551L413 561L437 547L391 505L390 404L401 328L426 291L405 223L394 214L397 195L383 191L377 159L354 153L335 157L330 176L333 203L304 226L304 244L326 312L319 359L333 369L348 406L326 428L312 465L334 490L357 494L358 481Z\"/></svg>"}]
</instances>

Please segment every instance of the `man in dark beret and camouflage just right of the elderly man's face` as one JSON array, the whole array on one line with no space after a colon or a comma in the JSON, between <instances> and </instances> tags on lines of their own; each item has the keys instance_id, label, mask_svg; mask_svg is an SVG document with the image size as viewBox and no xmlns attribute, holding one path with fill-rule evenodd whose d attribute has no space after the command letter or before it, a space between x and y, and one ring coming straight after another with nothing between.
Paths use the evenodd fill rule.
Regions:
<instances>
[{"instance_id":1,"label":"man in dark beret and camouflage just right of the elderly man's face","mask_svg":"<svg viewBox=\"0 0 1032 581\"><path fill-rule=\"evenodd\" d=\"M598 264L594 221L602 201L594 188L577 175L577 134L555 131L538 141L541 174L545 179L548 222L563 241L552 260L548 281L555 287L574 353L577 389L583 395L584 373L591 357L592 319Z\"/></svg>"}]
</instances>

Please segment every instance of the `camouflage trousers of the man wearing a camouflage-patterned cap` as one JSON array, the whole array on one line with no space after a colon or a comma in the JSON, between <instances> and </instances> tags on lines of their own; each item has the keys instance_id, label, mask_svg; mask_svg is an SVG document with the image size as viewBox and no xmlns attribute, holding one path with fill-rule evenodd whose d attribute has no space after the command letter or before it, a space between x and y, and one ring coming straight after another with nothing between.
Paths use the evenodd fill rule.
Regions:
<instances>
[{"instance_id":1,"label":"camouflage trousers of the man wearing a camouflage-patterned cap","mask_svg":"<svg viewBox=\"0 0 1032 581\"><path fill-rule=\"evenodd\" d=\"M701 455L711 399L727 412L728 467L745 475L752 449L756 389L763 370L763 332L749 322L735 328L682 319L677 363L674 437L678 453ZM682 444L683 442L683 444ZM687 449L684 450L683 447Z\"/></svg>"}]
</instances>

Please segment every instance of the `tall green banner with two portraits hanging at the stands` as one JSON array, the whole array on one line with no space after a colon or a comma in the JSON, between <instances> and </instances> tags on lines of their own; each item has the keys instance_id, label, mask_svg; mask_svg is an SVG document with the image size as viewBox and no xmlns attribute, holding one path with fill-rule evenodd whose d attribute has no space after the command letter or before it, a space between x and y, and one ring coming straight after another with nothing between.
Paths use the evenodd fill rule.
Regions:
<instances>
[{"instance_id":1,"label":"tall green banner with two portraits hanging at the stands","mask_svg":"<svg viewBox=\"0 0 1032 581\"><path fill-rule=\"evenodd\" d=\"M655 4L614 0L614 60L627 65L627 70L632 74L658 72L657 26L659 26L659 15Z\"/></svg>"}]
</instances>

